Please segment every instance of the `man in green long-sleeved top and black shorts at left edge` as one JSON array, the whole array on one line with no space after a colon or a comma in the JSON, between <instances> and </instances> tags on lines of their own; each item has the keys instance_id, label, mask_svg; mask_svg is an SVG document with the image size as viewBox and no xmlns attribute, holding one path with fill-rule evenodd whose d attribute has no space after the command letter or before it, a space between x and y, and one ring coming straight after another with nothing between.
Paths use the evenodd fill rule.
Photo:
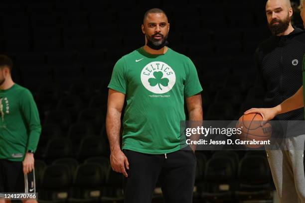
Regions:
<instances>
[{"instance_id":1,"label":"man in green long-sleeved top and black shorts at left edge","mask_svg":"<svg viewBox=\"0 0 305 203\"><path fill-rule=\"evenodd\" d=\"M30 91L12 81L11 70L11 59L0 55L0 193L35 193L39 114Z\"/></svg>"}]
</instances>

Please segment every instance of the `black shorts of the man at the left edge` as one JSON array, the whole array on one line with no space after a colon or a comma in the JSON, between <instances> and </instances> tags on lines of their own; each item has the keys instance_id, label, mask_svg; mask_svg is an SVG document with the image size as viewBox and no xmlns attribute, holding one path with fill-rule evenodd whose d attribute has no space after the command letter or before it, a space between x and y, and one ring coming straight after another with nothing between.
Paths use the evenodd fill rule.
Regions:
<instances>
[{"instance_id":1,"label":"black shorts of the man at the left edge","mask_svg":"<svg viewBox=\"0 0 305 203\"><path fill-rule=\"evenodd\" d=\"M24 175L21 161L0 159L0 193L36 193L35 171Z\"/></svg>"}]
</instances>

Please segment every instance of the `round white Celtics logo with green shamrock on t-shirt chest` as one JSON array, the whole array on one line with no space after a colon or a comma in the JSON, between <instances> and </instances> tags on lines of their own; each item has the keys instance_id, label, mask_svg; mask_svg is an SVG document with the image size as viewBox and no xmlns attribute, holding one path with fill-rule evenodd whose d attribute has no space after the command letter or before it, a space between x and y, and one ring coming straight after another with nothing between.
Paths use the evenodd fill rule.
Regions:
<instances>
[{"instance_id":1,"label":"round white Celtics logo with green shamrock on t-shirt chest","mask_svg":"<svg viewBox=\"0 0 305 203\"><path fill-rule=\"evenodd\" d=\"M154 61L143 68L141 81L150 92L164 94L172 89L176 76L170 66L160 61Z\"/></svg>"}]
</instances>

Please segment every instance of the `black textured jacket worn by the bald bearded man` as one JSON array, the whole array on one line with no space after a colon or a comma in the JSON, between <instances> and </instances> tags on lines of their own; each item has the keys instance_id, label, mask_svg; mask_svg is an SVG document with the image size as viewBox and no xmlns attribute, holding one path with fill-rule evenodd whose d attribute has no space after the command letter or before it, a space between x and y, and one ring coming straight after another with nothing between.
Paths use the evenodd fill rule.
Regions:
<instances>
[{"instance_id":1,"label":"black textured jacket worn by the bald bearded man","mask_svg":"<svg viewBox=\"0 0 305 203\"><path fill-rule=\"evenodd\" d=\"M272 35L260 43L255 58L261 84L266 90L266 107L284 102L303 85L304 53L305 31L300 28L289 35ZM275 120L304 120L304 108L279 114Z\"/></svg>"}]
</instances>

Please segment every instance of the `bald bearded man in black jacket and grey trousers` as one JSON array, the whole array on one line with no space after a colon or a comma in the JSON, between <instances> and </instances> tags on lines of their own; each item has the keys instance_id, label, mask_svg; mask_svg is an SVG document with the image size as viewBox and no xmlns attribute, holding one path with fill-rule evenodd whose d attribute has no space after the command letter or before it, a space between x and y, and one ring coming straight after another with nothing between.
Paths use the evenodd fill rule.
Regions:
<instances>
[{"instance_id":1,"label":"bald bearded man in black jacket and grey trousers","mask_svg":"<svg viewBox=\"0 0 305 203\"><path fill-rule=\"evenodd\" d=\"M266 107L282 103L303 85L305 31L292 26L292 14L290 0L268 0L266 3L272 36L256 50L260 81L266 90ZM279 114L274 120L304 120L304 108ZM305 203L304 126L282 126L287 131L279 137L285 148L266 148L280 203Z\"/></svg>"}]
</instances>

